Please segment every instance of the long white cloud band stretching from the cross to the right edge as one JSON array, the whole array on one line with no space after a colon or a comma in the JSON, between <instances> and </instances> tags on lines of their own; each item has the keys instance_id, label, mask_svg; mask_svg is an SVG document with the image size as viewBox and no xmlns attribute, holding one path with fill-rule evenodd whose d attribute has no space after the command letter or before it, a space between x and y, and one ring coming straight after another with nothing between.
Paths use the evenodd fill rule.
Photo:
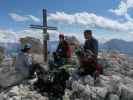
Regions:
<instances>
[{"instance_id":1,"label":"long white cloud band stretching from the cross to the right edge","mask_svg":"<svg viewBox=\"0 0 133 100\"><path fill-rule=\"evenodd\" d=\"M55 23L64 23L68 25L80 25L80 26L90 26L90 27L98 27L107 30L114 31L132 31L133 23L119 22L117 20L112 20L103 16L97 16L94 13L75 13L75 14L67 14L64 12L56 12L52 13L48 16L49 21L53 21Z\"/></svg>"}]
</instances>

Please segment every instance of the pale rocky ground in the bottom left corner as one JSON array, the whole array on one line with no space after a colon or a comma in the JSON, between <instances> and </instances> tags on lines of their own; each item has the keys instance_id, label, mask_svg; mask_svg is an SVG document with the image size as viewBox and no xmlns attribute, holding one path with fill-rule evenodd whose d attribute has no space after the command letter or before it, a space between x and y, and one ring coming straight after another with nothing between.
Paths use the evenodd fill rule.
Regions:
<instances>
[{"instance_id":1,"label":"pale rocky ground in the bottom left corner","mask_svg":"<svg viewBox=\"0 0 133 100\"><path fill-rule=\"evenodd\" d=\"M0 100L48 100L30 88L29 84L20 84L0 93Z\"/></svg>"}]
</instances>

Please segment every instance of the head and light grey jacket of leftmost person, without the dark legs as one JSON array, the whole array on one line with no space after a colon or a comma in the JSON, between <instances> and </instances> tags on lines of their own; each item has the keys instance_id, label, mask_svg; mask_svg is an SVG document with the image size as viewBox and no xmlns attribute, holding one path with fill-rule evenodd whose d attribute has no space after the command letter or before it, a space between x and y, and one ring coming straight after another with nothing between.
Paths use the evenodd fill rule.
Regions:
<instances>
[{"instance_id":1,"label":"head and light grey jacket of leftmost person, without the dark legs","mask_svg":"<svg viewBox=\"0 0 133 100\"><path fill-rule=\"evenodd\" d=\"M29 76L30 67L32 65L32 56L30 55L32 45L27 43L25 44L21 52L16 57L15 69L17 72L22 74L23 78Z\"/></svg>"}]
</instances>

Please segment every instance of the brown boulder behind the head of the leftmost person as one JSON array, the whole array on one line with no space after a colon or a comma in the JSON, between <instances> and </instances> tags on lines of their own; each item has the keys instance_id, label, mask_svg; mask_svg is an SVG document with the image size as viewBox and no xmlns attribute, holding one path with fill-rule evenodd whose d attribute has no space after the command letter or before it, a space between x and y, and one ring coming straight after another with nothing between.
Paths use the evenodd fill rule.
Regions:
<instances>
[{"instance_id":1,"label":"brown boulder behind the head of the leftmost person","mask_svg":"<svg viewBox=\"0 0 133 100\"><path fill-rule=\"evenodd\" d=\"M30 43L32 45L32 53L42 54L43 45L39 39L33 37L25 37L20 39L21 44Z\"/></svg>"}]
</instances>

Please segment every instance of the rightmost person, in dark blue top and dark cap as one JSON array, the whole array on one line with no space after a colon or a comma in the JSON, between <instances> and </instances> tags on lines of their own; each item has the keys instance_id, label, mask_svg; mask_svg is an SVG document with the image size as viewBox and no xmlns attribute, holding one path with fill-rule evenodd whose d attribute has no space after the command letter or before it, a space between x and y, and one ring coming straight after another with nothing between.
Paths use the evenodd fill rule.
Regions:
<instances>
[{"instance_id":1,"label":"rightmost person, in dark blue top and dark cap","mask_svg":"<svg viewBox=\"0 0 133 100\"><path fill-rule=\"evenodd\" d=\"M85 44L77 52L80 74L94 76L97 66L98 41L92 37L91 30L84 31Z\"/></svg>"}]
</instances>

